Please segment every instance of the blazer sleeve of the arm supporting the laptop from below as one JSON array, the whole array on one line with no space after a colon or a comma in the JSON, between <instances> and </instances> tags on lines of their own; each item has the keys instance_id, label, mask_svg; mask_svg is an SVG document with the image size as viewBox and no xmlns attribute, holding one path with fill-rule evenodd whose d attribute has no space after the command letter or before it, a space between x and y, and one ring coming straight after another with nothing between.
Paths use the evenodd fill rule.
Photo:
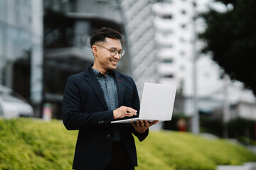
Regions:
<instances>
[{"instance_id":1,"label":"blazer sleeve of the arm supporting the laptop from below","mask_svg":"<svg viewBox=\"0 0 256 170\"><path fill-rule=\"evenodd\" d=\"M131 78L132 79L132 78ZM137 91L137 86L134 83L133 79L132 79L132 83L134 86L134 90L133 90L133 98L132 98L132 108L134 108L135 110L139 111L140 108L140 104L139 104L139 94ZM132 126L132 125L131 125ZM144 133L139 133L137 132L137 130L134 129L134 127L132 126L132 133L138 137L139 141L142 142L144 139L146 139L146 137L149 135L149 129L146 130Z\"/></svg>"}]
</instances>

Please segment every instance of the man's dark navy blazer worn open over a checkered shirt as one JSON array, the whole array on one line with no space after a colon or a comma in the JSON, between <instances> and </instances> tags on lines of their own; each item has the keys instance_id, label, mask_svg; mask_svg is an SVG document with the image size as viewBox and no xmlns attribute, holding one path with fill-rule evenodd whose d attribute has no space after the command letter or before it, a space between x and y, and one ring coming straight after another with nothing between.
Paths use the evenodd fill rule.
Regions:
<instances>
[{"instance_id":1,"label":"man's dark navy blazer worn open over a checkered shirt","mask_svg":"<svg viewBox=\"0 0 256 170\"><path fill-rule=\"evenodd\" d=\"M139 113L137 87L131 77L115 72L119 106L132 107ZM112 154L113 111L108 111L103 91L92 67L68 78L63 97L63 123L68 130L79 130L73 169L105 169ZM149 133L139 134L130 123L119 125L124 146L137 166L134 135L140 141Z\"/></svg>"}]
</instances>

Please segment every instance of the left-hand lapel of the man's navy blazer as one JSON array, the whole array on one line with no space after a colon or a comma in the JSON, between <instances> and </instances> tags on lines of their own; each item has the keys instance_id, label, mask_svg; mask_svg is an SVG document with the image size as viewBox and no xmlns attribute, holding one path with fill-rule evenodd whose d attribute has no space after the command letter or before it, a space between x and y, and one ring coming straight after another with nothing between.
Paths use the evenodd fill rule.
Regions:
<instances>
[{"instance_id":1,"label":"left-hand lapel of the man's navy blazer","mask_svg":"<svg viewBox=\"0 0 256 170\"><path fill-rule=\"evenodd\" d=\"M107 111L108 108L104 98L103 91L100 87L99 81L95 77L95 74L92 72L92 69L90 67L85 71L85 77L87 82L90 84L90 86L92 86L93 91L95 91L95 94L97 94L97 97L99 98L100 102Z\"/></svg>"}]
</instances>

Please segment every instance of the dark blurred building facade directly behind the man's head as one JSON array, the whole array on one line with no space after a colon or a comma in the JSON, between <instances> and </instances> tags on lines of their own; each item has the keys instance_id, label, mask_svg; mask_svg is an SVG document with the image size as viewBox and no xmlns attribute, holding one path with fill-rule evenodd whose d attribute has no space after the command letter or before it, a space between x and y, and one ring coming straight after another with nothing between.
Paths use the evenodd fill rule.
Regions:
<instances>
[{"instance_id":1,"label":"dark blurred building facade directly behind the man's head","mask_svg":"<svg viewBox=\"0 0 256 170\"><path fill-rule=\"evenodd\" d=\"M71 74L93 63L90 37L107 26L124 37L126 54L117 70L131 74L123 20L118 1L44 1L44 103L50 103L54 118L61 118L65 82Z\"/></svg>"}]
</instances>

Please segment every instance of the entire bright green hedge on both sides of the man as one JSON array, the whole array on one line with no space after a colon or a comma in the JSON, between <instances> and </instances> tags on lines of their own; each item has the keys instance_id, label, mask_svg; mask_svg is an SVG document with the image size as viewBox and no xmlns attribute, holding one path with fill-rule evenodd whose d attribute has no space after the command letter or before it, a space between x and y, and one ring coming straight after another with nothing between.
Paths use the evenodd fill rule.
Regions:
<instances>
[{"instance_id":1,"label":"entire bright green hedge on both sides of the man","mask_svg":"<svg viewBox=\"0 0 256 170\"><path fill-rule=\"evenodd\" d=\"M78 131L60 120L0 120L0 169L71 169ZM225 140L190 133L150 132L137 142L139 167L151 169L215 169L218 164L256 161L255 154Z\"/></svg>"}]
</instances>

